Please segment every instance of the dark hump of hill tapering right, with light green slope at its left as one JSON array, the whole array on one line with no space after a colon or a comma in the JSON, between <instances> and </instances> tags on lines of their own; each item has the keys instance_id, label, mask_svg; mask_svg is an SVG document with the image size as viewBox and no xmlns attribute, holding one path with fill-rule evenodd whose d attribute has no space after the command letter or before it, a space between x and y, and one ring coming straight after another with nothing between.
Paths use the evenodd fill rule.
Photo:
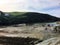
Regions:
<instances>
[{"instance_id":1,"label":"dark hump of hill tapering right, with light green slope at its left","mask_svg":"<svg viewBox=\"0 0 60 45\"><path fill-rule=\"evenodd\" d=\"M20 18L22 23L41 23L41 22L55 22L60 19L49 14L42 14L36 12L12 12L11 15L14 15Z\"/></svg>"}]
</instances>

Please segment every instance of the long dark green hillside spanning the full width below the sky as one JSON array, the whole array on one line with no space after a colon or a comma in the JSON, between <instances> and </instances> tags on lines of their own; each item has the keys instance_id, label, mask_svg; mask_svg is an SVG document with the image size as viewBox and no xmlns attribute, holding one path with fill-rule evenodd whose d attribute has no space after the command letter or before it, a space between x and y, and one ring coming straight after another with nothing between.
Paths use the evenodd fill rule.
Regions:
<instances>
[{"instance_id":1,"label":"long dark green hillside spanning the full width below the sky","mask_svg":"<svg viewBox=\"0 0 60 45\"><path fill-rule=\"evenodd\" d=\"M42 23L60 21L59 18L49 14L36 12L1 12L0 24Z\"/></svg>"}]
</instances>

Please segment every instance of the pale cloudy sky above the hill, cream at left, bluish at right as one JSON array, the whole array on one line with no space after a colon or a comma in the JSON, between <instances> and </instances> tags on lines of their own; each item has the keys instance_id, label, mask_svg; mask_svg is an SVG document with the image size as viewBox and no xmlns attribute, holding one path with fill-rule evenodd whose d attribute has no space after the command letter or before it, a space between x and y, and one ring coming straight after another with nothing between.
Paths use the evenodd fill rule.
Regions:
<instances>
[{"instance_id":1,"label":"pale cloudy sky above the hill, cream at left, bluish at right","mask_svg":"<svg viewBox=\"0 0 60 45\"><path fill-rule=\"evenodd\" d=\"M60 18L60 0L0 0L4 12L39 12Z\"/></svg>"}]
</instances>

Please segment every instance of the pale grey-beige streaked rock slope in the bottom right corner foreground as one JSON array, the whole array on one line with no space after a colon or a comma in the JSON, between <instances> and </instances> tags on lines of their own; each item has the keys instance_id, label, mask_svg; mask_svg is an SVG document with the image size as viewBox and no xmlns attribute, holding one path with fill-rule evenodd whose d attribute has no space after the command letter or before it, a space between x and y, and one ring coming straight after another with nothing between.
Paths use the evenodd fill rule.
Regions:
<instances>
[{"instance_id":1,"label":"pale grey-beige streaked rock slope in the bottom right corner foreground","mask_svg":"<svg viewBox=\"0 0 60 45\"><path fill-rule=\"evenodd\" d=\"M36 45L60 45L60 37L51 38Z\"/></svg>"}]
</instances>

